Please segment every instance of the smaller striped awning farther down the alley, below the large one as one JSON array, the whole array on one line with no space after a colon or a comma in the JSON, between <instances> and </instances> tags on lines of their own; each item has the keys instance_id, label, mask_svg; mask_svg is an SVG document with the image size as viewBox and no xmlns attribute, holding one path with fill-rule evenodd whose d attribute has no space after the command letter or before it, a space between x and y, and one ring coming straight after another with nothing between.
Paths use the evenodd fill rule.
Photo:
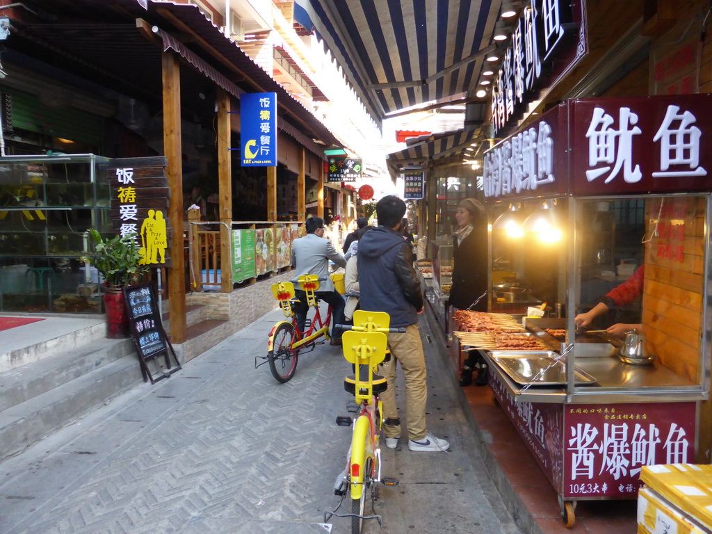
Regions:
<instances>
[{"instance_id":1,"label":"smaller striped awning farther down the alley, below the large one","mask_svg":"<svg viewBox=\"0 0 712 534\"><path fill-rule=\"evenodd\" d=\"M439 159L460 156L477 142L479 130L457 130L409 140L409 147L388 155L387 164L395 174L405 167L429 167Z\"/></svg>"}]
</instances>

